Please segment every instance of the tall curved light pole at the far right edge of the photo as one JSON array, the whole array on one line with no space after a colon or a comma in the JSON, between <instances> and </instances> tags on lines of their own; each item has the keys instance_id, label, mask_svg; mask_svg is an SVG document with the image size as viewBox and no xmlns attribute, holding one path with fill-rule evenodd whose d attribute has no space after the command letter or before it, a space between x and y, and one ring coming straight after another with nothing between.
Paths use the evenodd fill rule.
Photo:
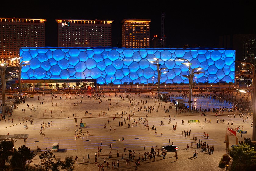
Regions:
<instances>
[{"instance_id":1,"label":"tall curved light pole at the far right edge of the photo","mask_svg":"<svg viewBox=\"0 0 256 171\"><path fill-rule=\"evenodd\" d=\"M242 64L248 64L251 65L252 68L252 91L251 92L251 103L252 103L252 114L253 114L253 122L252 122L252 141L256 141L256 78L255 78L255 68L254 65L250 62L244 62L244 61L235 61L240 62Z\"/></svg>"}]
</instances>

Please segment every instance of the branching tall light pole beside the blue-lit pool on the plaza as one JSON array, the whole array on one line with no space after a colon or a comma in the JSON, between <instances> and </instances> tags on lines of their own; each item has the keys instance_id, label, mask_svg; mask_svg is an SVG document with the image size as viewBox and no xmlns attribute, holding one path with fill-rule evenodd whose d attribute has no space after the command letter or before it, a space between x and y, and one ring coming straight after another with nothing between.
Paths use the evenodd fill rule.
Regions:
<instances>
[{"instance_id":1,"label":"branching tall light pole beside the blue-lit pool on the plaza","mask_svg":"<svg viewBox=\"0 0 256 171\"><path fill-rule=\"evenodd\" d=\"M201 74L201 73L204 73L204 71L198 71L198 70L201 70L203 68L194 68L194 69L192 69L191 68L192 63L190 63L187 59L183 59L183 58L178 58L178 59L181 60L181 61L187 61L186 63L182 63L182 64L184 64L188 67L189 75L182 75L182 76L188 78L188 81L189 81L189 102L188 102L189 103L189 110L188 111L191 112L193 78L194 78L195 74ZM194 72L195 70L197 70L197 71Z\"/></svg>"}]
</instances>

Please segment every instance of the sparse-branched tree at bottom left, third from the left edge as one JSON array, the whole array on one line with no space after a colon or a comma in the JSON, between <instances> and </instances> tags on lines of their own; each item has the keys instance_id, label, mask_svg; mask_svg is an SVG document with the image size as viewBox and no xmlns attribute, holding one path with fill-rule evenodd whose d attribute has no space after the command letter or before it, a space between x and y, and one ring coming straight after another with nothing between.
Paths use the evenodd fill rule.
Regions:
<instances>
[{"instance_id":1,"label":"sparse-branched tree at bottom left, third from the left edge","mask_svg":"<svg viewBox=\"0 0 256 171\"><path fill-rule=\"evenodd\" d=\"M39 159L39 164L34 163L34 165L39 169L52 170L53 167L56 167L56 163L54 162L56 157L50 149L47 150L46 148L45 152L39 155Z\"/></svg>"}]
</instances>

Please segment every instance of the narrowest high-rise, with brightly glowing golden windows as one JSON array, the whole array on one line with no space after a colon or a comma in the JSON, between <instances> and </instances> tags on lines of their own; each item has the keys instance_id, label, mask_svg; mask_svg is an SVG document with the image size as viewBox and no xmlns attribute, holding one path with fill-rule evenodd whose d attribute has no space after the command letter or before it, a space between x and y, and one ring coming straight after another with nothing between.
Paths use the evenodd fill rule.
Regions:
<instances>
[{"instance_id":1,"label":"narrowest high-rise, with brightly glowing golden windows","mask_svg":"<svg viewBox=\"0 0 256 171\"><path fill-rule=\"evenodd\" d=\"M151 19L123 19L122 47L150 48Z\"/></svg>"}]
</instances>

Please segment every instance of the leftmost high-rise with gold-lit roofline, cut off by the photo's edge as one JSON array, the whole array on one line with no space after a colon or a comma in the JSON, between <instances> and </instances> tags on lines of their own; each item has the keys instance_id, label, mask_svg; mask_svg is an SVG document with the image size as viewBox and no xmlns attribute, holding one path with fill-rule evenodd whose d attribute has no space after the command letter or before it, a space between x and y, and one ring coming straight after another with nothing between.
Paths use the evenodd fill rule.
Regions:
<instances>
[{"instance_id":1,"label":"leftmost high-rise with gold-lit roofline, cut off by the photo's edge","mask_svg":"<svg viewBox=\"0 0 256 171\"><path fill-rule=\"evenodd\" d=\"M46 19L0 18L0 62L19 57L20 47L44 47ZM9 61L16 65L18 61Z\"/></svg>"}]
</instances>

